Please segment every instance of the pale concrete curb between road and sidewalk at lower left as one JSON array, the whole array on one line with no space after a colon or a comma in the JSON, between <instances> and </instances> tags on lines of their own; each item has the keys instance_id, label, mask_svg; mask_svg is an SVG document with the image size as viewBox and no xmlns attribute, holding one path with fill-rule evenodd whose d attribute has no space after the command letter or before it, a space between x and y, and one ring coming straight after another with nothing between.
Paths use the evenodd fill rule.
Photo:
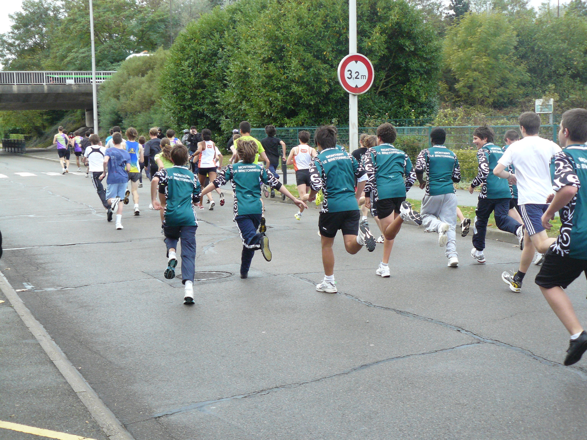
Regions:
<instances>
[{"instance_id":1,"label":"pale concrete curb between road and sidewalk at lower left","mask_svg":"<svg viewBox=\"0 0 587 440\"><path fill-rule=\"evenodd\" d=\"M35 336L36 340L39 341L39 344L41 344L49 359L58 368L59 373L68 381L68 384L72 387L79 400L82 401L87 411L92 415L99 427L102 428L104 434L110 440L134 440L133 436L123 427L113 412L104 405L104 402L96 394L96 391L90 387L90 384L86 382L82 374L72 365L65 353L63 353L61 348L49 336L45 327L35 319L2 272L0 272L0 289L12 304L18 316L21 317L26 327Z\"/></svg>"}]
</instances>

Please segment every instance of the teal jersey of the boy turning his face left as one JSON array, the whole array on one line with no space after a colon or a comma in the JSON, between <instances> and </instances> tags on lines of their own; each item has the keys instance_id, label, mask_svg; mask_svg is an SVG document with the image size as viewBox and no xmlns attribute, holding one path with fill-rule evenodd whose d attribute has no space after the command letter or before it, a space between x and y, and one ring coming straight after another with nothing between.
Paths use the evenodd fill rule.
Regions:
<instances>
[{"instance_id":1,"label":"teal jersey of the boy turning his face left","mask_svg":"<svg viewBox=\"0 0 587 440\"><path fill-rule=\"evenodd\" d=\"M497 161L504 155L504 150L495 144L485 144L477 151L477 160L479 168L477 176L471 182L471 186L481 186L482 199L505 199L512 198L510 184L507 179L502 179L493 174L493 169L497 167Z\"/></svg>"}]
</instances>

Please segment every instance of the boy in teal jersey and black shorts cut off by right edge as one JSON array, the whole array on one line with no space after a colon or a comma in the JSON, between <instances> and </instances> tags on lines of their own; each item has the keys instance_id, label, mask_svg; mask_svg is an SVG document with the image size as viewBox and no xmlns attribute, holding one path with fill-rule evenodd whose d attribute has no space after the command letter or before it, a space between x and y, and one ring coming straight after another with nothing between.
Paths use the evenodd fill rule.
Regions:
<instances>
[{"instance_id":1,"label":"boy in teal jersey and black shorts cut off by right edge","mask_svg":"<svg viewBox=\"0 0 587 440\"><path fill-rule=\"evenodd\" d=\"M549 248L535 282L571 334L565 365L572 365L587 350L587 333L579 323L573 304L564 290L587 270L587 110L565 111L558 139L565 149L552 158L552 187L556 194L542 215L542 226L551 229L549 221L559 211L561 234L556 239L545 241ZM516 169L519 174L520 168ZM523 215L525 212L528 209L522 209Z\"/></svg>"}]
</instances>

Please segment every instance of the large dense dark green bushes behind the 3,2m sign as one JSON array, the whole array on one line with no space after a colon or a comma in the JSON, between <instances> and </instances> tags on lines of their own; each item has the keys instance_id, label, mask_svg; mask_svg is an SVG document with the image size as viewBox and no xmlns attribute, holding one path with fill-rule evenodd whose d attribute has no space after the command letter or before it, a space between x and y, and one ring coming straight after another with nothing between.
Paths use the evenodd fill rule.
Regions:
<instances>
[{"instance_id":1,"label":"large dense dark green bushes behind the 3,2m sign","mask_svg":"<svg viewBox=\"0 0 587 440\"><path fill-rule=\"evenodd\" d=\"M357 6L359 52L376 75L359 97L366 114L430 113L436 106L440 45L403 0ZM348 121L348 95L336 67L348 53L346 0L240 0L188 26L161 78L178 124L224 131L247 119L259 126Z\"/></svg>"}]
</instances>

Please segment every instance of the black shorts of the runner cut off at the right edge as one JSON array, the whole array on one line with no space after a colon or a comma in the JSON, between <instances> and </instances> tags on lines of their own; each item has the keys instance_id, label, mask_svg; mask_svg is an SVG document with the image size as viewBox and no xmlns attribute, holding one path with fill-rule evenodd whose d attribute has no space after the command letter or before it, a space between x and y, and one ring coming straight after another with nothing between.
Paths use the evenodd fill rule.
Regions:
<instances>
[{"instance_id":1,"label":"black shorts of the runner cut off at the right edge","mask_svg":"<svg viewBox=\"0 0 587 440\"><path fill-rule=\"evenodd\" d=\"M552 252L552 249L548 249L540 272L538 272L534 282L545 289L552 289L552 287L566 289L586 270L587 260L563 257ZM587 276L587 273L585 276Z\"/></svg>"}]
</instances>

